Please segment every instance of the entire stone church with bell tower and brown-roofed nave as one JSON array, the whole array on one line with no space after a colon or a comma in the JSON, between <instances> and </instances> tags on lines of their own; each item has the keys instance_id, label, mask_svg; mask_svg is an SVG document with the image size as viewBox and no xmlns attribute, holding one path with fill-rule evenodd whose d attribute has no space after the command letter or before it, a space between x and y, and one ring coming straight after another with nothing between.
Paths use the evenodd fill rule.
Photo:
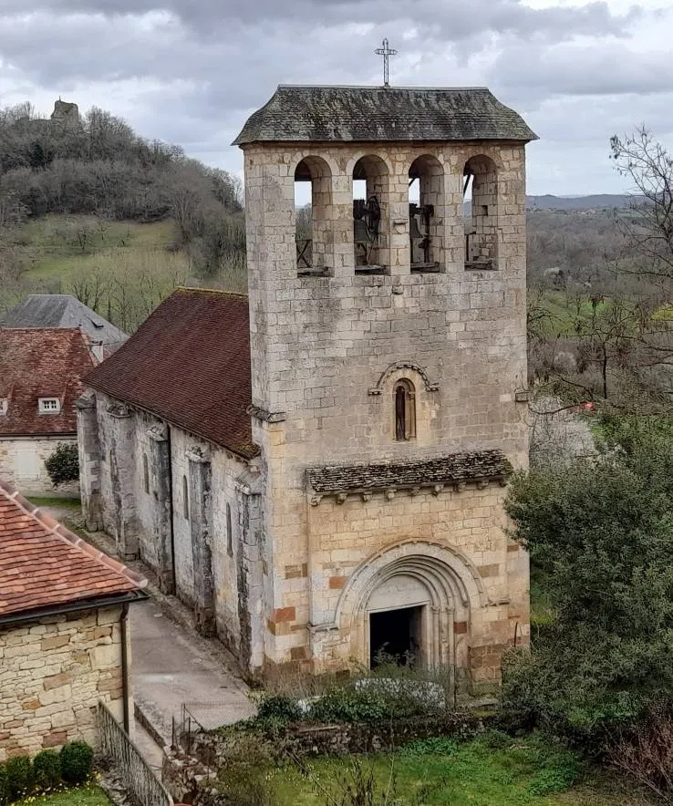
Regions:
<instances>
[{"instance_id":1,"label":"entire stone church with bell tower and brown-roofed nave","mask_svg":"<svg viewBox=\"0 0 673 806\"><path fill-rule=\"evenodd\" d=\"M486 88L280 86L235 140L247 296L178 289L85 379L88 528L248 677L383 652L477 695L527 642L535 139Z\"/></svg>"}]
</instances>

